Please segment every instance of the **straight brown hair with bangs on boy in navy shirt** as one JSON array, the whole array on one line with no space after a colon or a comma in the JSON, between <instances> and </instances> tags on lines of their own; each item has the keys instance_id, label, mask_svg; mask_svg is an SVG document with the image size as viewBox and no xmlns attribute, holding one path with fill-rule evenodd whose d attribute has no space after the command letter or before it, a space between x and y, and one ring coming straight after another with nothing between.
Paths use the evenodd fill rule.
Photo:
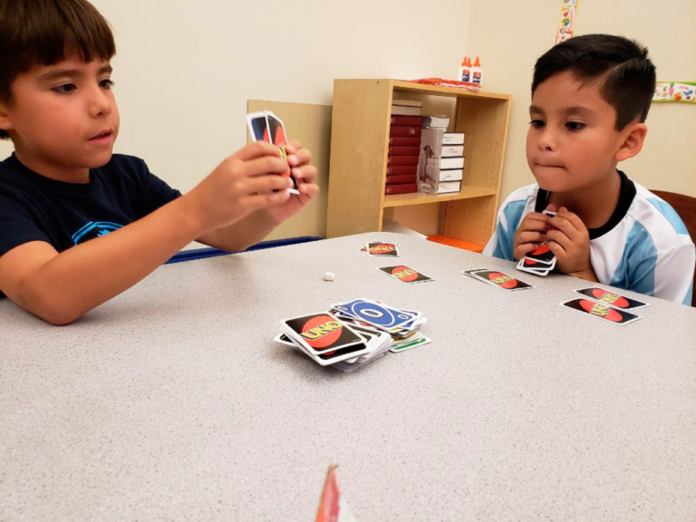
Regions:
<instances>
[{"instance_id":1,"label":"straight brown hair with bangs on boy in navy shirt","mask_svg":"<svg viewBox=\"0 0 696 522\"><path fill-rule=\"evenodd\" d=\"M87 0L0 0L0 102L12 103L18 75L72 53L85 63L116 54L109 23Z\"/></svg>"}]
</instances>

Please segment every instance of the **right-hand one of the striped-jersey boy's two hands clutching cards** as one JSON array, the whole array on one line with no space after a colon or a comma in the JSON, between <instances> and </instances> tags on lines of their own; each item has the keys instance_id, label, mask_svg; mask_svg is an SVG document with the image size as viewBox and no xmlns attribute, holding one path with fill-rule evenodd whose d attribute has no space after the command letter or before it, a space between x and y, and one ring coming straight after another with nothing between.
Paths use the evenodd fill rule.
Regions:
<instances>
[{"instance_id":1,"label":"right-hand one of the striped-jersey boy's two hands clutching cards","mask_svg":"<svg viewBox=\"0 0 696 522\"><path fill-rule=\"evenodd\" d=\"M546 232L546 239L548 248L556 256L556 268L567 275L596 281L590 263L590 234L585 223L565 207L559 208L550 222L554 228Z\"/></svg>"}]
</instances>

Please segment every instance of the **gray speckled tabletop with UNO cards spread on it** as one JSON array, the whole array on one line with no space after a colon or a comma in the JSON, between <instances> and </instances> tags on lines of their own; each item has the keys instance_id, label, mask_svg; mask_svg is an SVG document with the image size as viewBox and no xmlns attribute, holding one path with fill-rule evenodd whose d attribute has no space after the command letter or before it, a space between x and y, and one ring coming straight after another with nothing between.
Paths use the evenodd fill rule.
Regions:
<instances>
[{"instance_id":1,"label":"gray speckled tabletop with UNO cards spread on it","mask_svg":"<svg viewBox=\"0 0 696 522\"><path fill-rule=\"evenodd\" d=\"M515 273L366 234L163 266L67 327L3 300L0 520L312 520L331 462L361 522L696 519L696 311L604 324L558 305L576 279L459 274L483 266ZM354 297L433 343L343 374L272 341Z\"/></svg>"}]
</instances>

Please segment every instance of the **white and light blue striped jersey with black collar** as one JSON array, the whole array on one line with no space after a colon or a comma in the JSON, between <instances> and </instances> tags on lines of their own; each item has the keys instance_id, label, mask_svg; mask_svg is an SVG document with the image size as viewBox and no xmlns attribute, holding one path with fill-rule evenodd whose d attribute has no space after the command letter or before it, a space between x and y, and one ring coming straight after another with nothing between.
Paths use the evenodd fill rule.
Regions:
<instances>
[{"instance_id":1,"label":"white and light blue striped jersey with black collar","mask_svg":"<svg viewBox=\"0 0 696 522\"><path fill-rule=\"evenodd\" d=\"M603 227L588 229L594 274L604 285L691 304L696 249L686 226L669 204L619 173L613 216ZM547 199L536 183L510 194L483 253L514 261L517 227L528 212L544 210Z\"/></svg>"}]
</instances>

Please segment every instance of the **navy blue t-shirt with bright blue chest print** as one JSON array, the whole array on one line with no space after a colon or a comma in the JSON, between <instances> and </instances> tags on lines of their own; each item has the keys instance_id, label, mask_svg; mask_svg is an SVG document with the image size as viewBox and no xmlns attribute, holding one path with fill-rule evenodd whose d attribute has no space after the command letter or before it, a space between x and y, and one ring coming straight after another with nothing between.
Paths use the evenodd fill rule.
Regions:
<instances>
[{"instance_id":1,"label":"navy blue t-shirt with bright blue chest print","mask_svg":"<svg viewBox=\"0 0 696 522\"><path fill-rule=\"evenodd\" d=\"M29 241L63 252L180 195L132 156L114 154L103 167L90 169L89 183L82 184L45 178L13 154L0 162L0 256Z\"/></svg>"}]
</instances>

